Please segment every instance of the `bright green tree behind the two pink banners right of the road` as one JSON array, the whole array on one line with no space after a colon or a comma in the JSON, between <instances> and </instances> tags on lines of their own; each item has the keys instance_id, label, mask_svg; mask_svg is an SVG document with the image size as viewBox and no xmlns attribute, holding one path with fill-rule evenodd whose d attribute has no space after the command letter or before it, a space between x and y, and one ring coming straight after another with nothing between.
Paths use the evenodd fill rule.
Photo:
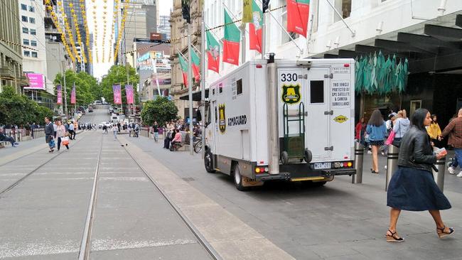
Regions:
<instances>
[{"instance_id":1,"label":"bright green tree behind the two pink banners right of the road","mask_svg":"<svg viewBox=\"0 0 462 260\"><path fill-rule=\"evenodd\" d=\"M133 67L128 67L129 84L133 85L135 94L135 104L138 104L138 92L136 91L136 84L139 82L139 75L136 74L136 70ZM122 102L127 102L127 95L124 91L124 85L127 84L127 67L122 65L114 65L109 69L107 75L102 77L101 80L101 91L102 97L106 99L106 102L114 102L114 92L112 92L112 85L122 82Z\"/></svg>"}]
</instances>

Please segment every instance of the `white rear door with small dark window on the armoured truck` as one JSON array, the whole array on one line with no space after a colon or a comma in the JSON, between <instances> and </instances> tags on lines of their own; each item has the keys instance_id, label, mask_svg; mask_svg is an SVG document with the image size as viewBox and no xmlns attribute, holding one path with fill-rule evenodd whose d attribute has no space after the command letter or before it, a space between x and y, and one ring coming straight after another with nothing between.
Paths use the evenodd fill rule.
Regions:
<instances>
[{"instance_id":1,"label":"white rear door with small dark window on the armoured truck","mask_svg":"<svg viewBox=\"0 0 462 260\"><path fill-rule=\"evenodd\" d=\"M330 96L329 67L311 67L305 69L306 79L305 104L306 133L305 142L308 150L313 153L313 162L330 161L332 156L330 136Z\"/></svg>"}]
</instances>

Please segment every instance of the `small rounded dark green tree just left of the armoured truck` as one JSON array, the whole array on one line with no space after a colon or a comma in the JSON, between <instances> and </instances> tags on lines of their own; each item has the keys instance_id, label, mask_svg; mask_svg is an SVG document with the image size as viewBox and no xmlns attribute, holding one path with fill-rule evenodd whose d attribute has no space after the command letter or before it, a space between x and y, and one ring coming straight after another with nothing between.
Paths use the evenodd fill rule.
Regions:
<instances>
[{"instance_id":1,"label":"small rounded dark green tree just left of the armoured truck","mask_svg":"<svg viewBox=\"0 0 462 260\"><path fill-rule=\"evenodd\" d=\"M176 120L177 114L178 108L173 101L158 96L156 100L149 100L143 104L141 120L149 126L154 124L154 121L162 126L166 121Z\"/></svg>"}]
</instances>

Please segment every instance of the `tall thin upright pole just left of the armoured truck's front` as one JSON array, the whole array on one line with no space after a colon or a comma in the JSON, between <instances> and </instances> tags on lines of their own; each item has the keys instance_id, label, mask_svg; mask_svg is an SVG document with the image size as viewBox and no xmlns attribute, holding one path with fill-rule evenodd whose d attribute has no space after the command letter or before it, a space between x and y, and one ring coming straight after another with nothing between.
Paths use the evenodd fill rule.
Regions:
<instances>
[{"instance_id":1,"label":"tall thin upright pole just left of the armoured truck's front","mask_svg":"<svg viewBox=\"0 0 462 260\"><path fill-rule=\"evenodd\" d=\"M205 156L205 17L204 9L202 9L202 26L200 26L200 100L202 101L202 107L200 111L201 117L201 134L200 141L202 142L202 158Z\"/></svg>"}]
</instances>

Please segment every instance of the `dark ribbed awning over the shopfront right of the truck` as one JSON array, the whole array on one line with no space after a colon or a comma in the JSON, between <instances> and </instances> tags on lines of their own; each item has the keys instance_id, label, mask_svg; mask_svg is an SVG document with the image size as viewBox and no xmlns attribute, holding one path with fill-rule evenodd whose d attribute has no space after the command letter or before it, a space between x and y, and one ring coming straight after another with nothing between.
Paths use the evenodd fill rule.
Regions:
<instances>
[{"instance_id":1,"label":"dark ribbed awning over the shopfront right of the truck","mask_svg":"<svg viewBox=\"0 0 462 260\"><path fill-rule=\"evenodd\" d=\"M362 40L316 58L359 58L371 53L409 59L409 72L462 69L462 11L424 21L377 38Z\"/></svg>"}]
</instances>

